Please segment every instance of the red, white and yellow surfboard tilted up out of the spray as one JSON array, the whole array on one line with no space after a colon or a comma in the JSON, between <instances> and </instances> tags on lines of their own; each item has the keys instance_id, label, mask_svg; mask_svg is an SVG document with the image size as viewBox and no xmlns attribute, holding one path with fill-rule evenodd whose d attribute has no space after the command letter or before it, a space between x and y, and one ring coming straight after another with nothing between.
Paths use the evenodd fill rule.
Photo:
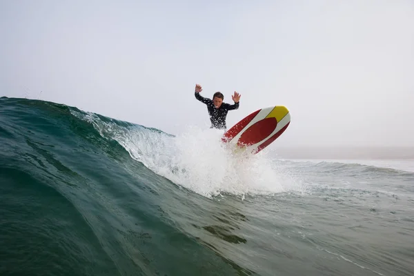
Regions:
<instances>
[{"instance_id":1,"label":"red, white and yellow surfboard tilted up out of the spray","mask_svg":"<svg viewBox=\"0 0 414 276\"><path fill-rule=\"evenodd\" d=\"M256 110L224 132L221 141L253 154L263 150L288 128L290 113L285 106Z\"/></svg>"}]
</instances>

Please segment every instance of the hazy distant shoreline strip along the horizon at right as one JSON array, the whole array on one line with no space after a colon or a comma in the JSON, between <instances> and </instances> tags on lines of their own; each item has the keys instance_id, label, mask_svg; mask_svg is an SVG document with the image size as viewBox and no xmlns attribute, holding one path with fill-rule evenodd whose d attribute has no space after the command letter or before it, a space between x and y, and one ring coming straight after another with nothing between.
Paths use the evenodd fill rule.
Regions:
<instances>
[{"instance_id":1,"label":"hazy distant shoreline strip along the horizon at right","mask_svg":"<svg viewBox=\"0 0 414 276\"><path fill-rule=\"evenodd\" d=\"M413 147L284 147L273 148L277 157L287 159L414 159Z\"/></svg>"}]
</instances>

